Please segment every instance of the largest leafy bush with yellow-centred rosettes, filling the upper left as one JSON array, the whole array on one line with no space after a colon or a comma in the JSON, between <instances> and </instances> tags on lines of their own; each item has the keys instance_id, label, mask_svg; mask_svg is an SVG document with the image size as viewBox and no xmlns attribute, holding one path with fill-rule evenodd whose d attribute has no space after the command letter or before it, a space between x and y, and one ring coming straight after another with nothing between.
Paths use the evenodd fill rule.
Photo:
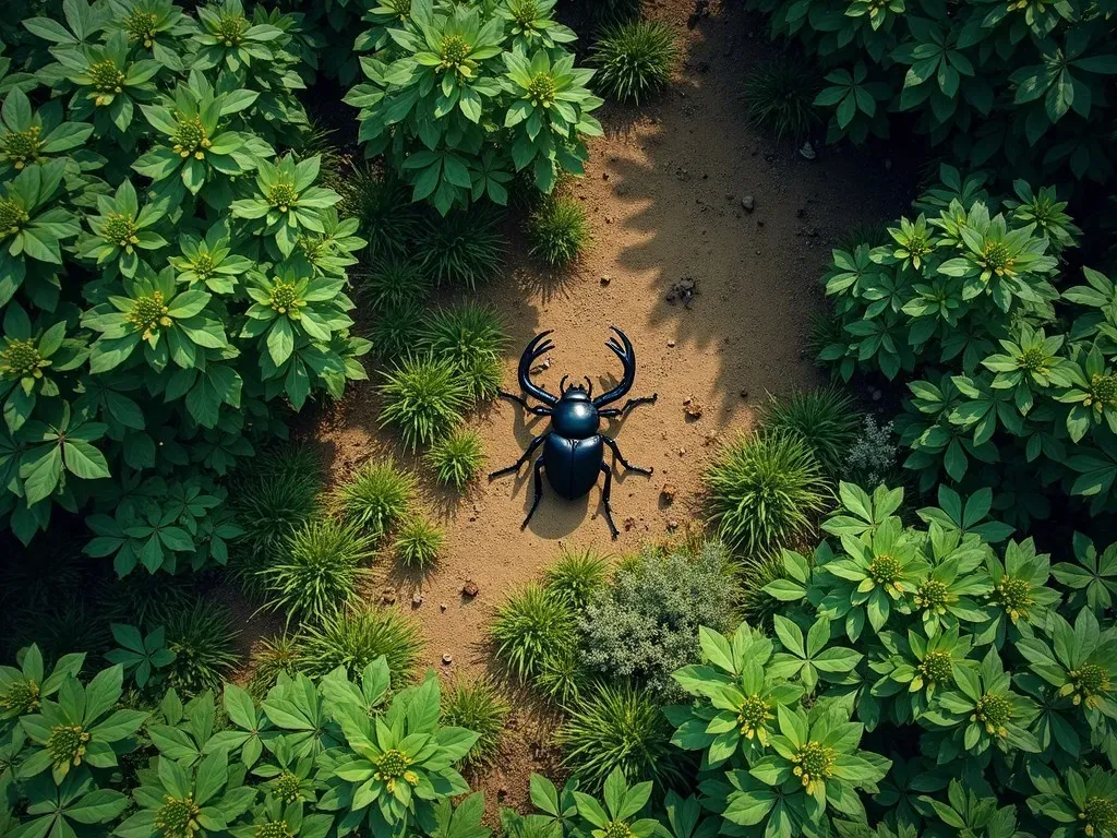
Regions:
<instances>
[{"instance_id":1,"label":"largest leafy bush with yellow-centred rosettes, filling the upper left","mask_svg":"<svg viewBox=\"0 0 1117 838\"><path fill-rule=\"evenodd\" d=\"M237 2L44 13L3 63L0 516L27 543L55 505L88 513L120 574L220 565L213 476L284 404L365 378L344 294L365 242L321 160L275 147L309 128L313 55L297 17Z\"/></svg>"}]
</instances>

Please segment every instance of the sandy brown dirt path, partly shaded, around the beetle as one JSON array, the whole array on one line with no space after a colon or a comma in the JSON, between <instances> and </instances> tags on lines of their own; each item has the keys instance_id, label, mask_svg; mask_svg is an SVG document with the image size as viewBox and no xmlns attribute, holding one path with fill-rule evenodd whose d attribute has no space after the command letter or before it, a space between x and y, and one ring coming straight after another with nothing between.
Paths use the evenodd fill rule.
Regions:
<instances>
[{"instance_id":1,"label":"sandy brown dirt path, partly shaded, around the beetle","mask_svg":"<svg viewBox=\"0 0 1117 838\"><path fill-rule=\"evenodd\" d=\"M426 511L446 527L440 563L418 579L385 556L369 597L386 593L413 612L428 639L426 663L446 676L490 667L484 638L493 608L536 578L562 545L622 555L695 517L700 475L718 441L747 428L767 393L820 382L802 345L822 305L818 276L829 248L852 225L890 218L905 206L884 160L817 142L818 156L809 161L746 126L742 80L771 47L755 22L723 12L716 0L694 30L686 26L689 11L686 0L649 10L676 26L684 45L670 88L639 109L602 114L607 136L590 144L586 177L572 188L593 226L588 255L571 270L541 272L517 237L505 277L477 295L506 317L506 389L516 389L519 352L540 331L554 330L550 368L535 378L552 392L565 373L589 375L599 392L614 383L621 368L604 346L609 326L631 337L639 363L631 394L658 392L659 401L608 427L628 459L655 467L650 478L614 473L620 537L610 540L600 485L575 502L545 487L521 531L532 499L529 466L516 477L483 479L461 497L437 489L429 472L378 430L373 385L355 388L316 431L334 479L386 456L419 475ZM752 211L742 202L748 196ZM680 282L694 283L690 305L667 298ZM688 413L687 399L699 417ZM468 421L496 468L513 463L546 419L502 401ZM665 484L676 492L672 504L660 497ZM476 598L462 596L467 581L479 589ZM422 601L413 606L417 594ZM490 811L497 798L522 807L527 773L554 764L553 721L524 706L514 713L500 764L475 778L489 792Z\"/></svg>"}]
</instances>

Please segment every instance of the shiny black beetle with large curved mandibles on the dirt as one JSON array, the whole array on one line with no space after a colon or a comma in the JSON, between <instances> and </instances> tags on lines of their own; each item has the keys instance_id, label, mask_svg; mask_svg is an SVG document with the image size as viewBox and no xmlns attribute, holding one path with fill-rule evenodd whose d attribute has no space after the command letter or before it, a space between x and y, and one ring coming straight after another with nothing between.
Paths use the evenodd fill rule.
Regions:
<instances>
[{"instance_id":1,"label":"shiny black beetle with large curved mandibles on the dirt","mask_svg":"<svg viewBox=\"0 0 1117 838\"><path fill-rule=\"evenodd\" d=\"M617 441L598 430L601 426L602 417L607 419L621 417L637 404L655 403L656 399L659 398L658 393L652 393L639 399L629 399L623 408L604 408L605 404L623 398L632 389L632 383L636 381L636 352L632 349L632 342L617 326L611 326L611 328L617 333L617 337L620 337L620 341L617 337L610 337L605 345L621 360L621 363L624 365L624 374L620 383L609 392L602 393L594 399L593 384L589 379L585 379L586 387L582 387L581 384L566 387L567 377L563 375L562 381L558 383L560 396L555 398L542 387L532 382L532 363L544 352L550 352L554 349L554 343L544 340L553 330L535 335L519 359L521 389L528 396L542 401L544 407L533 407L527 403L523 396L507 393L504 390L500 391L502 397L522 404L528 412L535 416L551 417L550 429L545 434L541 434L532 439L527 446L527 450L524 451L524 455L519 459L507 468L502 468L489 475L489 479L491 480L494 477L518 472L519 467L532 456L532 453L541 445L543 446L543 454L535 460L535 501L532 503L532 508L528 511L527 517L524 518L524 523L519 527L521 530L527 526L527 522L532 520L532 515L535 514L535 510L540 505L540 499L543 497L541 472L547 473L547 483L567 501L573 501L586 494L598 482L598 477L604 473L605 485L601 491L601 499L605 506L605 521L609 523L609 530L615 539L617 526L613 524L613 511L609 505L609 493L612 488L613 473L603 461L605 446L612 449L615 460L626 470L645 475L652 473L650 468L633 466L624 459L620 448L617 447Z\"/></svg>"}]
</instances>

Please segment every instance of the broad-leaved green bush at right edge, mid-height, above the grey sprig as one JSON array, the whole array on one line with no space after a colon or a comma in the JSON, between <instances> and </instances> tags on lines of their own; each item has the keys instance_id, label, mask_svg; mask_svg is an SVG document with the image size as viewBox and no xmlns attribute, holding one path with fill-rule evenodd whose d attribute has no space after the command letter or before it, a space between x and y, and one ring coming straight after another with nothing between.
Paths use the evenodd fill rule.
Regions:
<instances>
[{"instance_id":1,"label":"broad-leaved green bush at right edge, mid-height, above the grey sprig","mask_svg":"<svg viewBox=\"0 0 1117 838\"><path fill-rule=\"evenodd\" d=\"M907 384L895 428L920 491L991 486L1016 524L1047 517L1057 492L1096 513L1117 476L1113 282L1060 276L1078 229L1054 190L995 199L980 177L941 177L890 244L834 251L841 334L821 358Z\"/></svg>"}]
</instances>

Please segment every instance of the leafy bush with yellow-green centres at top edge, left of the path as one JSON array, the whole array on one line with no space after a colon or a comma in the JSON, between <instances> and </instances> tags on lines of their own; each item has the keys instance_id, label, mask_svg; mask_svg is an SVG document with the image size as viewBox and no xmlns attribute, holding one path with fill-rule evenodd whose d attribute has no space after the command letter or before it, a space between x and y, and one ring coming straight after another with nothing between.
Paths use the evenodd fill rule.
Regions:
<instances>
[{"instance_id":1,"label":"leafy bush with yellow-green centres at top edge, left of the path","mask_svg":"<svg viewBox=\"0 0 1117 838\"><path fill-rule=\"evenodd\" d=\"M382 6L356 48L366 83L345 102L360 108L369 156L446 216L483 198L503 204L513 172L531 171L550 192L563 171L582 173L583 136L600 136L590 112L601 104L564 44L574 32L553 3L455 6L413 0Z\"/></svg>"}]
</instances>

